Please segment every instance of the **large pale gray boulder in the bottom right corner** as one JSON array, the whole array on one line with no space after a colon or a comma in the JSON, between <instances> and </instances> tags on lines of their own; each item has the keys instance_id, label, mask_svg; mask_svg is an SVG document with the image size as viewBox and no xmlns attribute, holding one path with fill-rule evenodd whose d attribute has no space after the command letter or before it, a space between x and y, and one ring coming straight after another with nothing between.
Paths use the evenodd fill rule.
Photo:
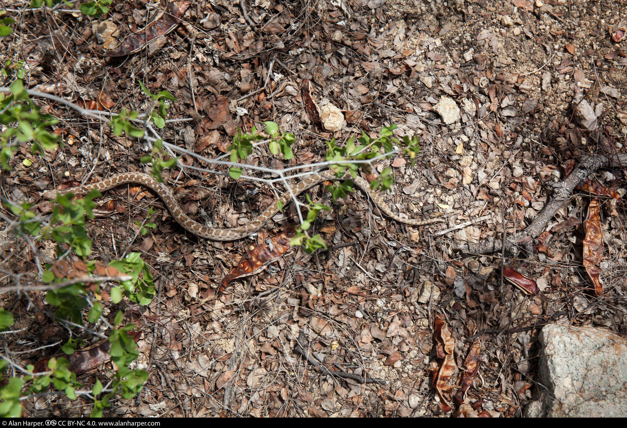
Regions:
<instances>
[{"instance_id":1,"label":"large pale gray boulder in the bottom right corner","mask_svg":"<svg viewBox=\"0 0 627 428\"><path fill-rule=\"evenodd\" d=\"M527 416L627 416L627 340L602 328L552 324L539 342L540 394Z\"/></svg>"}]
</instances>

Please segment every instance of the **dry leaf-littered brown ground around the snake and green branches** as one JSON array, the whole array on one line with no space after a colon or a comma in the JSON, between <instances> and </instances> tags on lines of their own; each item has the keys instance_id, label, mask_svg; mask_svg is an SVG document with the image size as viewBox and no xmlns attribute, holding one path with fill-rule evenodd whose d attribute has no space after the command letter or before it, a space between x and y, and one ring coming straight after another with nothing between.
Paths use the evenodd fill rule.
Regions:
<instances>
[{"instance_id":1,"label":"dry leaf-littered brown ground around the snake and green branches","mask_svg":"<svg viewBox=\"0 0 627 428\"><path fill-rule=\"evenodd\" d=\"M238 127L273 120L295 135L295 159L277 160L260 146L247 162L275 169L323 160L330 138L343 143L361 130L374 136L395 123L396 135L418 135L422 150L414 166L401 157L377 164L378 172L394 172L387 204L404 216L446 219L406 227L356 192L316 226L329 251L295 251L213 300L220 279L250 246L285 230L293 207L254 239L215 243L186 234L150 193L108 192L113 202L106 209L102 202L88 224L95 258L107 263L140 251L159 284L150 305L122 305L143 332L137 367L150 377L139 399L120 398L110 415L517 417L534 395L546 395L539 379L556 367L539 363L543 347L555 346L545 340L548 331L539 342L547 323L587 328L600 337L591 347L624 347L621 167L594 174L603 191L577 189L532 254L463 253L458 244L500 243L503 231L524 231L551 197L547 182L564 179L586 155L624 153L626 3L201 0L174 31L116 57L103 55L120 49L165 4L116 1L99 18L72 13L71 6L64 12L26 10L18 0L5 5L18 25L0 39L0 59L24 61L28 88L111 112L149 108L138 80L152 92L168 90L177 98L168 118L189 121L169 123L161 136L209 159L224 153ZM305 112L305 80L315 102L343 115L326 122L326 130ZM23 147L3 172L7 199L37 202L68 179L145 170L144 142L116 137L60 103L37 102L61 118L65 145L45 156ZM190 155L181 160L209 167ZM176 174L166 170L164 177L173 184ZM176 185L190 216L220 227L250 222L275 198L267 186L221 175L192 172ZM317 200L322 193L310 191ZM595 216L588 209L593 200L601 204ZM159 209L150 217L155 229L132 239L150 206ZM584 242L586 217L599 222L592 243ZM584 254L591 245L598 256L592 267ZM7 256L4 264L12 272L33 268L22 256ZM503 264L534 279L537 293L503 282ZM586 268L601 281L592 283ZM19 328L26 328L7 339L11 351L66 340L68 330L36 318L24 295L3 297L5 308L21 311ZM105 315L116 311L112 303L105 307ZM57 351L14 358L28 364ZM104 384L110 370L105 364L79 378ZM385 382L360 384L329 370ZM579 375L564 376L579 385ZM464 379L457 399L460 389L446 385ZM627 387L623 378L617 382L614 402L624 404ZM78 400L26 400L25 412L89 414L90 400ZM534 406L527 415L562 415L542 401Z\"/></svg>"}]
</instances>

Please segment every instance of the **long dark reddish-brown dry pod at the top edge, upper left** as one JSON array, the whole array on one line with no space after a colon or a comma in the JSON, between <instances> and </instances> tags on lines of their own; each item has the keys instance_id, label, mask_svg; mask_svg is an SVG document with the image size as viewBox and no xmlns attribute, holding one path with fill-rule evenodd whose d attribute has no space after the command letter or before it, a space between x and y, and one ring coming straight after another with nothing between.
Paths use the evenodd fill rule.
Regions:
<instances>
[{"instance_id":1,"label":"long dark reddish-brown dry pod at the top edge, upper left","mask_svg":"<svg viewBox=\"0 0 627 428\"><path fill-rule=\"evenodd\" d=\"M137 53L154 39L169 34L181 22L181 18L190 4L190 1L171 1L167 4L161 18L155 19L145 28L122 40L120 46L105 56L124 56Z\"/></svg>"}]
</instances>

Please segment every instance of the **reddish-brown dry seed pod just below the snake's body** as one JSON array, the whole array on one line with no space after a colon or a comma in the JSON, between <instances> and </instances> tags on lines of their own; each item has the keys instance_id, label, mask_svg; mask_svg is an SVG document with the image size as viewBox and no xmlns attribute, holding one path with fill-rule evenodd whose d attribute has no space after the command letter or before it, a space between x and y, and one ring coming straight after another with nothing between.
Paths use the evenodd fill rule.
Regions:
<instances>
[{"instance_id":1,"label":"reddish-brown dry seed pod just below the snake's body","mask_svg":"<svg viewBox=\"0 0 627 428\"><path fill-rule=\"evenodd\" d=\"M265 244L253 248L250 253L246 254L246 258L238 264L237 268L233 269L231 273L222 278L216 296L219 297L223 293L229 282L237 278L242 278L243 276L260 273L268 264L287 253L287 251L292 248L290 239L294 235L294 227L290 227L287 231L268 238Z\"/></svg>"}]
</instances>

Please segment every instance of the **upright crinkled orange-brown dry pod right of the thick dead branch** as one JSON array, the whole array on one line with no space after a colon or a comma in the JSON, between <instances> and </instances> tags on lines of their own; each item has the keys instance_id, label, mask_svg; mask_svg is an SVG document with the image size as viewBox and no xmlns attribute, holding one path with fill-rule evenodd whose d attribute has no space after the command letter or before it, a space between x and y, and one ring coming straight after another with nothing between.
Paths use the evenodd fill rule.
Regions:
<instances>
[{"instance_id":1,"label":"upright crinkled orange-brown dry pod right of the thick dead branch","mask_svg":"<svg viewBox=\"0 0 627 428\"><path fill-rule=\"evenodd\" d=\"M594 198L588 205L584 232L586 237L583 242L583 264L590 280L594 284L597 296L603 295L603 284L599 278L599 269L596 266L601 263L603 256L603 231L601 231L601 206L599 200Z\"/></svg>"}]
</instances>

